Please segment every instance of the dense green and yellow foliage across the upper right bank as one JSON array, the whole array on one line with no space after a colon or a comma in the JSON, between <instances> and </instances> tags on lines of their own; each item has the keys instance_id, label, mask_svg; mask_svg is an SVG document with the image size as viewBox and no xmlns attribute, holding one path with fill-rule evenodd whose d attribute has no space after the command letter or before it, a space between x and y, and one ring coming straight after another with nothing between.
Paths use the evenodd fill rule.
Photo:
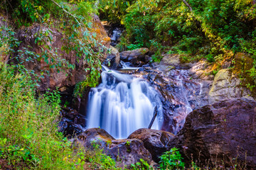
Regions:
<instances>
[{"instance_id":1,"label":"dense green and yellow foliage across the upper right bank","mask_svg":"<svg viewBox=\"0 0 256 170\"><path fill-rule=\"evenodd\" d=\"M186 4L187 3L187 4ZM159 62L161 53L178 53L183 62L206 58L220 64L244 52L256 63L256 6L252 0L100 1L100 15L122 23L126 32L117 47L149 47ZM255 64L248 70L255 86ZM252 82L254 82L252 84Z\"/></svg>"}]
</instances>

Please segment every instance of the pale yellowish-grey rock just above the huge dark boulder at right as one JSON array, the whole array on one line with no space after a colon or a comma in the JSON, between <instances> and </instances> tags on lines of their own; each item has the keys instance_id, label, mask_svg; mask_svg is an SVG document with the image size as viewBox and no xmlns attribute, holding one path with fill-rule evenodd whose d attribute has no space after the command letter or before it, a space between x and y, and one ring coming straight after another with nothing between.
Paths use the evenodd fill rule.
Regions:
<instances>
[{"instance_id":1,"label":"pale yellowish-grey rock just above the huge dark boulder at right","mask_svg":"<svg viewBox=\"0 0 256 170\"><path fill-rule=\"evenodd\" d=\"M221 69L214 78L213 85L209 91L209 102L216 103L225 98L248 98L253 100L250 96L249 89L240 86L241 81L230 69Z\"/></svg>"}]
</instances>

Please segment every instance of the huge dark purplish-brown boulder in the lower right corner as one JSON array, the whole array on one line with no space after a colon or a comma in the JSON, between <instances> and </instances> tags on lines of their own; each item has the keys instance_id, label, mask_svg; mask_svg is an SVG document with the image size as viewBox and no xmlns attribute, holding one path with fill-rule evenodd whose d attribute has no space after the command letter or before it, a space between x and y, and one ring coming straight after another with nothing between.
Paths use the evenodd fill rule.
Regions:
<instances>
[{"instance_id":1,"label":"huge dark purplish-brown boulder in the lower right corner","mask_svg":"<svg viewBox=\"0 0 256 170\"><path fill-rule=\"evenodd\" d=\"M256 102L226 100L188 114L183 129L171 141L187 162L256 168Z\"/></svg>"}]
</instances>

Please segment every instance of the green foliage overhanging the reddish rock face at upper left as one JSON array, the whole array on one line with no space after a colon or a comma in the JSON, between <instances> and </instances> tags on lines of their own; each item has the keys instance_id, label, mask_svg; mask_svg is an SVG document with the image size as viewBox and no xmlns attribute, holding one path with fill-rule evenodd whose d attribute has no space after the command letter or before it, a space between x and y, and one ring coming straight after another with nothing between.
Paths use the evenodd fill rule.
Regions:
<instances>
[{"instance_id":1,"label":"green foliage overhanging the reddish rock face at upper left","mask_svg":"<svg viewBox=\"0 0 256 170\"><path fill-rule=\"evenodd\" d=\"M49 64L50 69L55 72L63 71L66 76L72 76L71 70L75 69L75 64L63 59L62 53L73 52L76 54L77 62L82 62L85 71L90 70L90 74L85 77L87 86L96 86L100 78L100 69L105 47L100 43L92 28L92 13L97 13L93 1L31 1L18 0L3 2L6 13L11 13L14 24L17 27L31 26L33 23L44 23L43 30L36 33L35 43L41 47L41 52L34 52L32 47L24 47L16 50L19 43L14 36L14 32L9 28L1 30L7 34L1 34L4 43L0 44L0 53L5 53L6 58L10 58L13 64L28 64L43 60ZM63 46L61 49L53 49L53 33L51 30L57 29L63 33ZM4 36L4 38L3 38ZM4 52L1 52L1 48ZM49 74L48 70L41 70L41 78L44 74ZM80 89L82 91L82 89Z\"/></svg>"}]
</instances>

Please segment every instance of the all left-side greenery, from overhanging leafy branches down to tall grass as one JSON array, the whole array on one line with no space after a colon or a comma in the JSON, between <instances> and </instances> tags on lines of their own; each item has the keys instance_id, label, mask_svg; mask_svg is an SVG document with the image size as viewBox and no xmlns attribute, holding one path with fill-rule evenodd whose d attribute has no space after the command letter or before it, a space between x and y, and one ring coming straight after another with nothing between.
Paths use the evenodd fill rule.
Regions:
<instances>
[{"instance_id":1,"label":"all left-side greenery, from overhanging leafy branches down to tall grass","mask_svg":"<svg viewBox=\"0 0 256 170\"><path fill-rule=\"evenodd\" d=\"M85 151L58 132L58 91L36 91L40 78L50 72L41 69L38 75L24 66L44 60L56 72L74 69L60 51L75 52L78 62L85 62L84 69L90 71L82 83L96 86L104 50L92 28L97 8L90 1L50 0L1 1L0 6L1 13L12 18L12 28L0 28L0 169L116 169L114 160L101 150ZM34 35L41 51L29 46L17 50L21 42L15 29L35 23L48 28ZM64 35L61 49L52 48L52 29Z\"/></svg>"}]
</instances>

